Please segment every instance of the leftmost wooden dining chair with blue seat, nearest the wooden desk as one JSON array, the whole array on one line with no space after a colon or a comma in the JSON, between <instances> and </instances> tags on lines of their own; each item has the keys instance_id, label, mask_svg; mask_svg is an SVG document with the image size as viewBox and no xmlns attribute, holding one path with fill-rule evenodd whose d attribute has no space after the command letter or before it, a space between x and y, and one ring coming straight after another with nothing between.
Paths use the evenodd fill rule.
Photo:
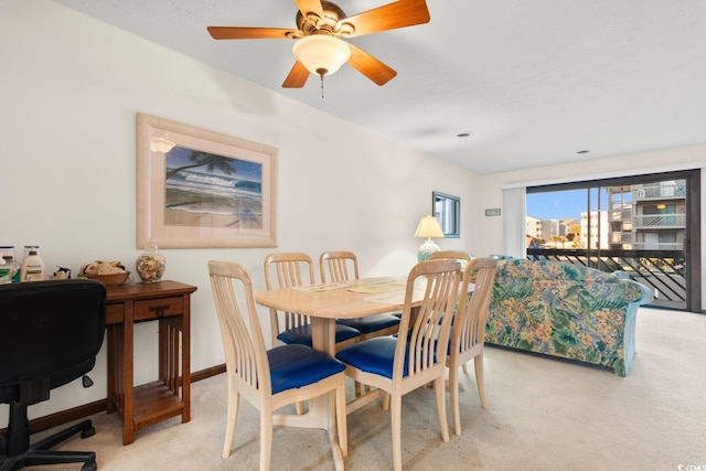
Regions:
<instances>
[{"instance_id":1,"label":"leftmost wooden dining chair with blue seat, nearest the wooden desk","mask_svg":"<svg viewBox=\"0 0 706 471\"><path fill-rule=\"evenodd\" d=\"M223 458L231 456L240 396L260 411L260 471L268 471L272 426L296 427L292 420L276 420L275 410L324 394L331 395L335 402L339 445L345 457L347 429L344 365L328 353L301 344L266 350L255 309L253 282L245 268L235 263L210 261L208 274L228 377ZM244 306L246 312L240 310L240 306Z\"/></svg>"}]
</instances>

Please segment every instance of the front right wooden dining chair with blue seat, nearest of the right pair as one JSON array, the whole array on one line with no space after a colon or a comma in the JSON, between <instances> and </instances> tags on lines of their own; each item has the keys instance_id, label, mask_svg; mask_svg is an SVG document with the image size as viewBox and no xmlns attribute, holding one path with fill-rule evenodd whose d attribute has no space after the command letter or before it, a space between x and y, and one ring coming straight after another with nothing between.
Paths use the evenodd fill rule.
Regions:
<instances>
[{"instance_id":1,"label":"front right wooden dining chair with blue seat, nearest of the right pair","mask_svg":"<svg viewBox=\"0 0 706 471\"><path fill-rule=\"evenodd\" d=\"M395 471L402 471L403 464L402 398L405 394L434 384L441 439L449 441L446 354L460 282L461 269L456 260L427 260L415 265L407 279L399 324L399 332L407 334L368 339L336 354L336 358L345 363L349 377L388 395ZM418 291L416 283L420 285ZM418 307L413 308L417 302ZM413 310L416 311L414 315Z\"/></svg>"}]
</instances>

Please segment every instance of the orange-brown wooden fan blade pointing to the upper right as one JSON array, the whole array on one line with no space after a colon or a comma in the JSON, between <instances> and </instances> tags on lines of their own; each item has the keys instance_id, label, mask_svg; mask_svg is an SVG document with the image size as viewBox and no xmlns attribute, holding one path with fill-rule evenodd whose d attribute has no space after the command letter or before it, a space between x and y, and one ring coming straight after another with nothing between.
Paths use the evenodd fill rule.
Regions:
<instances>
[{"instance_id":1,"label":"orange-brown wooden fan blade pointing to the upper right","mask_svg":"<svg viewBox=\"0 0 706 471\"><path fill-rule=\"evenodd\" d=\"M385 6L354 14L343 20L355 26L349 38L429 22L429 10L425 0L398 0Z\"/></svg>"}]
</instances>

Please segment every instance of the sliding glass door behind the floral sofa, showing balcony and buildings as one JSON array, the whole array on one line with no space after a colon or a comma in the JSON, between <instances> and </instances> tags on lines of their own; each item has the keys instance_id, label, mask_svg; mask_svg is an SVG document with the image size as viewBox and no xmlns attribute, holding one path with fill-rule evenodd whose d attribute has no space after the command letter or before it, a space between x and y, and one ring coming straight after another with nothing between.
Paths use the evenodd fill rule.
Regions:
<instances>
[{"instance_id":1,"label":"sliding glass door behind the floral sofa, showing balcony and buildings","mask_svg":"<svg viewBox=\"0 0 706 471\"><path fill-rule=\"evenodd\" d=\"M612 272L700 312L698 170L527 189L527 257Z\"/></svg>"}]
</instances>

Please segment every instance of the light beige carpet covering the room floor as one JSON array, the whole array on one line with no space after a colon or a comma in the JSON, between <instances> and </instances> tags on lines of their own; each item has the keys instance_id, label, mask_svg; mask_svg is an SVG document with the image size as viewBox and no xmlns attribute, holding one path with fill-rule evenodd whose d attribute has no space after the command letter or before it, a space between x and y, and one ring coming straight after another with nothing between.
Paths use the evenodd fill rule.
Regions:
<instances>
[{"instance_id":1,"label":"light beige carpet covering the room floor","mask_svg":"<svg viewBox=\"0 0 706 471\"><path fill-rule=\"evenodd\" d=\"M405 396L403 461L408 470L706 469L706 315L642 309L628 377L500 349L485 350L489 409L480 407L472 365L461 375L463 435L441 441L434 390ZM121 446L115 416L93 416L96 435L63 449L95 450L105 471L256 470L257 411L245 400L234 453L221 458L224 375L192 387L192 420L173 419ZM448 396L447 396L448 399ZM447 408L448 408L447 400ZM450 424L450 409L449 409ZM377 404L349 416L347 470L392 469L389 415ZM278 428L272 470L331 470L323 431ZM55 469L55 468L54 468Z\"/></svg>"}]
</instances>

